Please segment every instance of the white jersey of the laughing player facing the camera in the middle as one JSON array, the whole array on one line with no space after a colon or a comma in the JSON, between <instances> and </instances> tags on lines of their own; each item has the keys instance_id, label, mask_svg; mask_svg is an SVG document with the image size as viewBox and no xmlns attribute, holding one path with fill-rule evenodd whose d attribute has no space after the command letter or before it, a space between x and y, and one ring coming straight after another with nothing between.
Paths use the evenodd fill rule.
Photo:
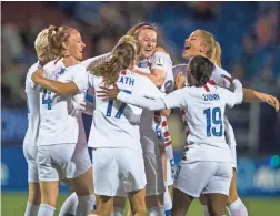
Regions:
<instances>
[{"instance_id":1,"label":"white jersey of the laughing player facing the camera in the middle","mask_svg":"<svg viewBox=\"0 0 280 216\"><path fill-rule=\"evenodd\" d=\"M138 70L144 73L151 73L150 70L159 69L163 70L166 74L164 83L161 86L161 91L166 90L171 91L173 89L173 75L169 73L170 69L172 70L172 61L169 54L158 51L150 58L146 58L138 62ZM141 122L140 122L140 134L141 134L141 144L144 152L154 152L154 147L158 147L158 142L164 142L158 138L158 131L162 132L161 122L166 119L162 119L159 112L143 110ZM158 125L160 127L158 127ZM166 133L167 134L167 133ZM163 133L161 133L163 135ZM157 144L157 145L154 145Z\"/></svg>"}]
</instances>

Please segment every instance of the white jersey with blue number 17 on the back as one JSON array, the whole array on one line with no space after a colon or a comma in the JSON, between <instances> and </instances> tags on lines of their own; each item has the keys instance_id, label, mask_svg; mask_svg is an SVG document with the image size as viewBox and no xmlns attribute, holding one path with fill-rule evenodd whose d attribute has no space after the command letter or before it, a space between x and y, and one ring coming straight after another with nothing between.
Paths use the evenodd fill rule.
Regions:
<instances>
[{"instance_id":1,"label":"white jersey with blue number 17 on the back","mask_svg":"<svg viewBox=\"0 0 280 216\"><path fill-rule=\"evenodd\" d=\"M94 91L99 91L103 85L102 78L91 76L91 85ZM120 72L117 85L128 93L161 96L148 78L129 70ZM96 110L88 145L90 147L126 147L142 152L139 133L141 113L142 109L133 105L117 100L103 101L96 96Z\"/></svg>"}]
</instances>

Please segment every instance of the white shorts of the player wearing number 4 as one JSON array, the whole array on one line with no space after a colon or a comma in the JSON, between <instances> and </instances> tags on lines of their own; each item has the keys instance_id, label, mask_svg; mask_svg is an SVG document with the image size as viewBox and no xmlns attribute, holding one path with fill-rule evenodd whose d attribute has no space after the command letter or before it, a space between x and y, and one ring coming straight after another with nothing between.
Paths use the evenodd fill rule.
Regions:
<instances>
[{"instance_id":1,"label":"white shorts of the player wearing number 4","mask_svg":"<svg viewBox=\"0 0 280 216\"><path fill-rule=\"evenodd\" d=\"M74 178L91 167L88 147L82 144L38 146L37 163L42 182Z\"/></svg>"}]
</instances>

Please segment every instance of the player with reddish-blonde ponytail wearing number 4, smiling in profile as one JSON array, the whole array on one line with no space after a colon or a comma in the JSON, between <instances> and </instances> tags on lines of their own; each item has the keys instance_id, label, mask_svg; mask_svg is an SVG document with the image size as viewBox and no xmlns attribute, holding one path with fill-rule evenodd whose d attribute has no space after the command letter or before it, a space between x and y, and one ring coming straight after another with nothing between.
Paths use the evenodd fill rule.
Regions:
<instances>
[{"instance_id":1,"label":"player with reddish-blonde ponytail wearing number 4, smiling in profile","mask_svg":"<svg viewBox=\"0 0 280 216\"><path fill-rule=\"evenodd\" d=\"M81 79L82 74L87 74L86 68L77 64L86 47L80 33L69 27L51 27L48 41L50 52L60 58L44 65L44 75L61 82L73 81L78 86L87 85L88 81ZM43 86L37 73L33 73L32 81ZM62 179L78 195L76 215L87 215L93 207L92 168L78 111L81 94L86 91L87 88L80 89L80 94L76 96L61 96L47 89L40 91L37 163L41 205L38 216L54 214L59 182Z\"/></svg>"}]
</instances>

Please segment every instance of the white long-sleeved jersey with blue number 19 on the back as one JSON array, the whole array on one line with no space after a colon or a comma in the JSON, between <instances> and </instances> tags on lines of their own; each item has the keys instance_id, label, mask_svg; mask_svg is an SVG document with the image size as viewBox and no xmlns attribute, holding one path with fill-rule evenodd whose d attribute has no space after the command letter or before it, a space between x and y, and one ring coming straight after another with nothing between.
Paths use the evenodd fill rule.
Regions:
<instances>
[{"instance_id":1,"label":"white long-sleeved jersey with blue number 19 on the back","mask_svg":"<svg viewBox=\"0 0 280 216\"><path fill-rule=\"evenodd\" d=\"M186 112L190 134L187 137L188 161L231 162L231 152L224 140L224 109L242 102L242 85L236 83L237 92L207 83L203 88L187 86L163 100L147 100L120 93L118 99L146 107L161 110L181 107Z\"/></svg>"}]
</instances>

